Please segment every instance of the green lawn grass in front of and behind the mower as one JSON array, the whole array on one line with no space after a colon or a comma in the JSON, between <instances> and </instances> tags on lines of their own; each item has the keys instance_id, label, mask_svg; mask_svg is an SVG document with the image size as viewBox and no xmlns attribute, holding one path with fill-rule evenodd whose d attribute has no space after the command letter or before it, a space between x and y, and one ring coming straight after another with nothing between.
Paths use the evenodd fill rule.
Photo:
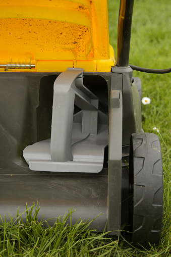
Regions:
<instances>
[{"instance_id":1,"label":"green lawn grass in front of and behind the mower","mask_svg":"<svg viewBox=\"0 0 171 257\"><path fill-rule=\"evenodd\" d=\"M115 49L119 0L108 3L110 43ZM130 64L163 69L171 66L171 5L167 0L136 0L132 25ZM142 125L146 132L159 129L164 176L164 211L161 242L148 249L135 248L123 238L110 238L106 233L87 230L90 221L79 220L67 225L73 210L56 219L53 227L48 221L37 221L33 207L22 217L17 214L10 222L1 221L0 256L171 256L171 167L170 167L170 95L171 74L152 75L134 72L142 80L142 95L151 104L142 106ZM16 210L17 212L17 210ZM46 227L46 228L43 228Z\"/></svg>"}]
</instances>

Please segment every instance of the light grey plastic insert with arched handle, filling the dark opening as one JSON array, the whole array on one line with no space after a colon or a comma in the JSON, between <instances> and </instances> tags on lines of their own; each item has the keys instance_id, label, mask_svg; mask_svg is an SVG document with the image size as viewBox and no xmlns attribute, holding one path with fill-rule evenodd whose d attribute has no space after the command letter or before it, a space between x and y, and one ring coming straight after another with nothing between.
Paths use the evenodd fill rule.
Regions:
<instances>
[{"instance_id":1,"label":"light grey plastic insert with arched handle, filling the dark opening","mask_svg":"<svg viewBox=\"0 0 171 257\"><path fill-rule=\"evenodd\" d=\"M74 105L82 109L74 115ZM68 68L54 82L51 138L23 150L31 170L100 172L108 144L108 116L83 85L83 69ZM73 116L74 115L74 116Z\"/></svg>"}]
</instances>

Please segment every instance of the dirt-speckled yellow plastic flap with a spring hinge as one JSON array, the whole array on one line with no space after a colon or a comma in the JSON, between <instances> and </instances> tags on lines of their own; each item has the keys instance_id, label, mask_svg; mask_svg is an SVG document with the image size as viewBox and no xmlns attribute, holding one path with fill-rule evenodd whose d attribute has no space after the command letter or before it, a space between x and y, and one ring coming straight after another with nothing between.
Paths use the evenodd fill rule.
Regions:
<instances>
[{"instance_id":1,"label":"dirt-speckled yellow plastic flap with a spring hinge","mask_svg":"<svg viewBox=\"0 0 171 257\"><path fill-rule=\"evenodd\" d=\"M0 64L31 62L37 72L114 64L106 0L3 0L0 31Z\"/></svg>"}]
</instances>

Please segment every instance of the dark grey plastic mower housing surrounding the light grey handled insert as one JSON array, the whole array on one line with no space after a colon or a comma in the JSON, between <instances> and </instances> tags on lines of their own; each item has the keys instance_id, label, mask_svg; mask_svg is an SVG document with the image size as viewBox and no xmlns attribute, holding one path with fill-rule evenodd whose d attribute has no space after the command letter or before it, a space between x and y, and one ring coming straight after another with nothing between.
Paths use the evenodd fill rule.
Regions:
<instances>
[{"instance_id":1,"label":"dark grey plastic mower housing surrounding the light grey handled insert","mask_svg":"<svg viewBox=\"0 0 171 257\"><path fill-rule=\"evenodd\" d=\"M127 164L130 136L141 132L141 105L138 90L131 82L132 70L115 67L108 73L83 73L85 87L104 106L108 105L108 110L104 110L103 105L98 108L109 119L109 158L105 147L103 169L98 173L32 171L23 158L26 146L50 140L53 85L59 75L57 72L1 73L0 215L2 218L6 215L8 221L7 212L14 216L19 207L22 213L26 202L31 206L33 201L38 201L41 206L40 220L43 214L44 220L59 217L74 207L73 223L80 217L93 219L102 213L90 228L103 231L107 223L106 229L118 235L129 219ZM74 115L80 111L74 107ZM53 222L49 221L51 225Z\"/></svg>"}]
</instances>

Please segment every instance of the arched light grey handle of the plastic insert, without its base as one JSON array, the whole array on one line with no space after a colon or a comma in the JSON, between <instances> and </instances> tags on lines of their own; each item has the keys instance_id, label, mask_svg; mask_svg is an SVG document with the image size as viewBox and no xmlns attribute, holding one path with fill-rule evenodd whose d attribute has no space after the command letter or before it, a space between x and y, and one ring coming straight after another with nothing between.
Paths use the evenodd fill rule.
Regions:
<instances>
[{"instance_id":1,"label":"arched light grey handle of the plastic insert, without its base","mask_svg":"<svg viewBox=\"0 0 171 257\"><path fill-rule=\"evenodd\" d=\"M68 68L55 80L50 141L52 162L73 160L74 103L83 110L83 133L97 134L97 101L97 96L83 85L83 69Z\"/></svg>"}]
</instances>

